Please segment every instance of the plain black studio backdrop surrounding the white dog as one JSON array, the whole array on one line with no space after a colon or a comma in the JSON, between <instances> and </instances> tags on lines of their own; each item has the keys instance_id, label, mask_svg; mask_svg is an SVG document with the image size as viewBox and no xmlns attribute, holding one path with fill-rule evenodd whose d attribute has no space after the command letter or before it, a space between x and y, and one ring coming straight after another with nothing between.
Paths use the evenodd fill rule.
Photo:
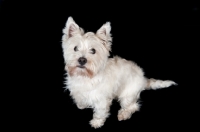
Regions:
<instances>
[{"instance_id":1,"label":"plain black studio backdrop surrounding the white dog","mask_svg":"<svg viewBox=\"0 0 200 132\"><path fill-rule=\"evenodd\" d=\"M117 101L96 131L192 130L198 100L199 10L195 2L70 2L3 0L1 50L5 60L7 129L92 131L92 110L79 110L64 92L62 29L72 16L85 31L112 26L112 54L141 66L148 78L178 86L141 93L141 110L119 122ZM4 48L5 47L5 48ZM7 52L4 51L6 49ZM8 50L7 50L8 49ZM197 76L197 77L195 77ZM196 85L193 85L196 84Z\"/></svg>"}]
</instances>

